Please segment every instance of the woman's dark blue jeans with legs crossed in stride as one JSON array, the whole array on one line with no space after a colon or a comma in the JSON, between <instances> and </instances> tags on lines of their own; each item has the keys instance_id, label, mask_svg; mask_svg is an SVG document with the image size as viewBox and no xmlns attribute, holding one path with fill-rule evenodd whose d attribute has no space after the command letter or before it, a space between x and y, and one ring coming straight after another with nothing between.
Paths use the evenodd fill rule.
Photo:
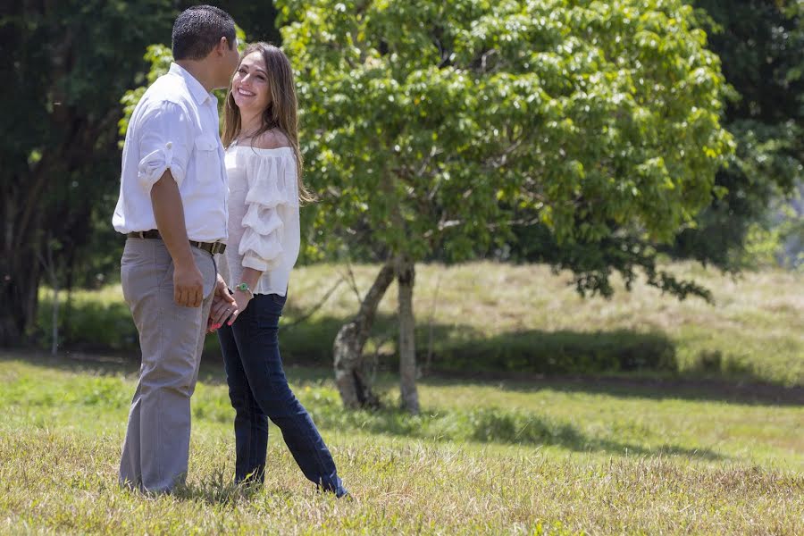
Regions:
<instances>
[{"instance_id":1,"label":"woman's dark blue jeans with legs crossed in stride","mask_svg":"<svg viewBox=\"0 0 804 536\"><path fill-rule=\"evenodd\" d=\"M279 350L285 297L257 294L231 326L218 330L229 398L234 407L235 480L263 482L268 419L282 431L302 473L320 489L347 493L313 419L290 390Z\"/></svg>"}]
</instances>

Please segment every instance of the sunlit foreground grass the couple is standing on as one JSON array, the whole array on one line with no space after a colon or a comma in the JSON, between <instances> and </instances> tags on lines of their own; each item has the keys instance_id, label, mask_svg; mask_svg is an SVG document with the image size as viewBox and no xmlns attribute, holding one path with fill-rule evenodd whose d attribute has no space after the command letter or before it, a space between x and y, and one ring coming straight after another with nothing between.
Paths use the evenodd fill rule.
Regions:
<instances>
[{"instance_id":1,"label":"sunlit foreground grass the couple is standing on","mask_svg":"<svg viewBox=\"0 0 804 536\"><path fill-rule=\"evenodd\" d=\"M289 366L356 500L314 493L275 427L230 484L220 364L193 398L188 487L120 490L136 364L0 354L0 533L804 533L804 407L711 389L423 380L423 413L348 412ZM381 375L387 400L398 397Z\"/></svg>"}]
</instances>

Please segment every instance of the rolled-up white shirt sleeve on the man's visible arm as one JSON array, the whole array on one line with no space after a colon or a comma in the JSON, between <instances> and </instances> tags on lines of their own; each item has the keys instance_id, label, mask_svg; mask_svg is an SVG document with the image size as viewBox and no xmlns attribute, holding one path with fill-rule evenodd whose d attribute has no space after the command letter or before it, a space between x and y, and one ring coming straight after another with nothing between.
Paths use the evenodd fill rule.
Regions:
<instances>
[{"instance_id":1,"label":"rolled-up white shirt sleeve on the man's visible arm","mask_svg":"<svg viewBox=\"0 0 804 536\"><path fill-rule=\"evenodd\" d=\"M139 138L139 185L150 194L166 170L181 186L187 173L193 130L188 114L172 102L161 102L148 110Z\"/></svg>"}]
</instances>

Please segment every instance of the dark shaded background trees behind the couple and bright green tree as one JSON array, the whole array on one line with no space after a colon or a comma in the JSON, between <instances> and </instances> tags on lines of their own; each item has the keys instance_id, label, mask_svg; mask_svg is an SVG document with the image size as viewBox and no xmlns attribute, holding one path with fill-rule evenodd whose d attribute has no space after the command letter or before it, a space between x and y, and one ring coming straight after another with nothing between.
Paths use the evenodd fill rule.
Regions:
<instances>
[{"instance_id":1,"label":"dark shaded background trees behind the couple and bright green tree","mask_svg":"<svg viewBox=\"0 0 804 536\"><path fill-rule=\"evenodd\" d=\"M167 44L176 13L189 4L194 3L22 2L0 17L7 52L0 59L3 346L41 337L37 309L43 283L93 288L117 277L122 241L109 222L119 181L120 99L145 83L146 47ZM281 41L279 12L271 3L218 4L249 40ZM801 207L793 198L804 162L800 3L693 5L729 85L722 124L735 144L728 166L716 174L716 186L723 188L713 188L711 203L694 225L685 224L670 244L628 227L607 239L567 242L524 207L504 239L479 242L462 258L568 268L579 274L579 289L604 294L611 290L612 271L626 277L655 271L662 253L730 271L767 262L800 265ZM337 248L307 254L302 264L345 258ZM350 244L348 259L378 261L371 244L364 249ZM425 260L449 263L454 256L442 248Z\"/></svg>"}]
</instances>

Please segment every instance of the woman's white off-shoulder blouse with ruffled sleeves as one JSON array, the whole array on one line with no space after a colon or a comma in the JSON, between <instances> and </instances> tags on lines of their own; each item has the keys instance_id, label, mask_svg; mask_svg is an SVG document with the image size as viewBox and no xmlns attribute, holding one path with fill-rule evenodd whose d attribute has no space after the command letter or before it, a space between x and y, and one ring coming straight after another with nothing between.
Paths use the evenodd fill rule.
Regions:
<instances>
[{"instance_id":1,"label":"woman's white off-shoulder blouse with ruffled sleeves","mask_svg":"<svg viewBox=\"0 0 804 536\"><path fill-rule=\"evenodd\" d=\"M290 147L226 150L229 176L229 288L242 282L243 268L263 272L255 294L285 296L298 258L298 182ZM225 275L225 271L222 271Z\"/></svg>"}]
</instances>

